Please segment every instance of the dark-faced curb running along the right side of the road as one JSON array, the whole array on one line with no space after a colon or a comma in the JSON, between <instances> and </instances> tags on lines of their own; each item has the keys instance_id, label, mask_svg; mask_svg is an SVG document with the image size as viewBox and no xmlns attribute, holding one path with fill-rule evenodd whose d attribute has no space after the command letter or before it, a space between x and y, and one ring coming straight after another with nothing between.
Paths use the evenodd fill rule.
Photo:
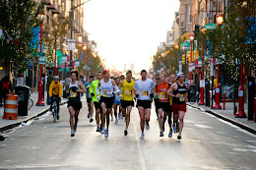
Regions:
<instances>
[{"instance_id":1,"label":"dark-faced curb running along the right side of the road","mask_svg":"<svg viewBox=\"0 0 256 170\"><path fill-rule=\"evenodd\" d=\"M226 121L226 122L229 122L229 123L231 123L231 124L233 124L233 125L235 125L235 126L241 128L241 129L243 129L243 130L245 130L245 131L247 131L247 132L249 132L249 133L251 133L251 134L256 135L256 130L252 129L251 127L249 127L249 126L247 126L247 125L244 125L244 124L242 124L242 123L239 123L239 122L237 122L237 121L235 121L235 120L229 119L229 118L225 117L224 115L221 115L220 113L217 113L217 112L212 111L212 110L204 110L204 109L202 109L202 108L200 108L200 107L192 106L192 105L190 105L190 104L187 104L187 105L189 105L190 107L199 109L199 110L201 110L201 111L203 111L203 112L210 113L210 114L212 114L212 115L214 115L214 116L216 116L216 117L218 117L218 118L220 118L220 119L222 119L222 120L224 120L224 121Z\"/></svg>"}]
</instances>

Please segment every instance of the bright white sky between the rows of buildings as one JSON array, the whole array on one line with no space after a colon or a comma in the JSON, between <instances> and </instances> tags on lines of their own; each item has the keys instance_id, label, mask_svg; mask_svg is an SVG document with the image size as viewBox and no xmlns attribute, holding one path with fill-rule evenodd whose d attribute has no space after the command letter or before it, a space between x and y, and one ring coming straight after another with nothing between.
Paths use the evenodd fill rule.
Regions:
<instances>
[{"instance_id":1,"label":"bright white sky between the rows of buildings","mask_svg":"<svg viewBox=\"0 0 256 170\"><path fill-rule=\"evenodd\" d=\"M179 0L91 0L84 5L84 26L107 67L148 70L160 42L166 41Z\"/></svg>"}]
</instances>

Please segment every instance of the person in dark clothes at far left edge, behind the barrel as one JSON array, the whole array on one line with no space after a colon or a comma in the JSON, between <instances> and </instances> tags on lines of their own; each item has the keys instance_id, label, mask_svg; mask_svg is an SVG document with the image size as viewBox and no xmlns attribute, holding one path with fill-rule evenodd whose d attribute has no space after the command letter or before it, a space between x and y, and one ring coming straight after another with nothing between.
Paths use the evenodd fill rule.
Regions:
<instances>
[{"instance_id":1,"label":"person in dark clothes at far left edge, behind the barrel","mask_svg":"<svg viewBox=\"0 0 256 170\"><path fill-rule=\"evenodd\" d=\"M4 99L4 102L5 102L5 98L6 98L6 95L11 92L13 92L13 85L11 83L11 81L9 81L9 77L6 76L2 79L1 81L1 91L0 91L0 107L3 106L2 104L2 99Z\"/></svg>"}]
</instances>

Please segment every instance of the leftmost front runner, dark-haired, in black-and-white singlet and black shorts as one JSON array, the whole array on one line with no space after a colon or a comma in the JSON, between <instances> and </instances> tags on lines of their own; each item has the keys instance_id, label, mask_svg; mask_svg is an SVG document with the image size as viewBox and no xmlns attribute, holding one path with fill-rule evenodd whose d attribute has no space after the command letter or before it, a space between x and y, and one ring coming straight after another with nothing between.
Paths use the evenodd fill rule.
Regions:
<instances>
[{"instance_id":1,"label":"leftmost front runner, dark-haired, in black-and-white singlet and black shorts","mask_svg":"<svg viewBox=\"0 0 256 170\"><path fill-rule=\"evenodd\" d=\"M86 92L86 88L81 81L78 80L78 71L72 70L70 72L72 82L68 84L67 93L69 93L68 108L70 114L70 128L71 137L75 137L78 126L78 115L82 108L81 93ZM75 116L75 123L74 123Z\"/></svg>"}]
</instances>

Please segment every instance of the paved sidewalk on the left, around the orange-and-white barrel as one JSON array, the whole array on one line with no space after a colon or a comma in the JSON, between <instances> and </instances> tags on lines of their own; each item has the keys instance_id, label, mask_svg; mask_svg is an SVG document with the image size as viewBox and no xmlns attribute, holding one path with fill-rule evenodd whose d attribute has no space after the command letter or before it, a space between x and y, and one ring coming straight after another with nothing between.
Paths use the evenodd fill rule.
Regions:
<instances>
[{"instance_id":1,"label":"paved sidewalk on the left, around the orange-and-white barrel","mask_svg":"<svg viewBox=\"0 0 256 170\"><path fill-rule=\"evenodd\" d=\"M22 122L28 122L29 120L34 119L37 116L40 116L46 113L49 110L49 105L46 103L47 92L44 92L44 103L45 106L35 106L38 100L38 92L34 92L31 95L33 106L28 112L28 116L18 116L18 120L6 120L2 119L4 115L4 107L0 107L0 133L12 128L19 126ZM61 104L67 102L67 98L61 98Z\"/></svg>"}]
</instances>

